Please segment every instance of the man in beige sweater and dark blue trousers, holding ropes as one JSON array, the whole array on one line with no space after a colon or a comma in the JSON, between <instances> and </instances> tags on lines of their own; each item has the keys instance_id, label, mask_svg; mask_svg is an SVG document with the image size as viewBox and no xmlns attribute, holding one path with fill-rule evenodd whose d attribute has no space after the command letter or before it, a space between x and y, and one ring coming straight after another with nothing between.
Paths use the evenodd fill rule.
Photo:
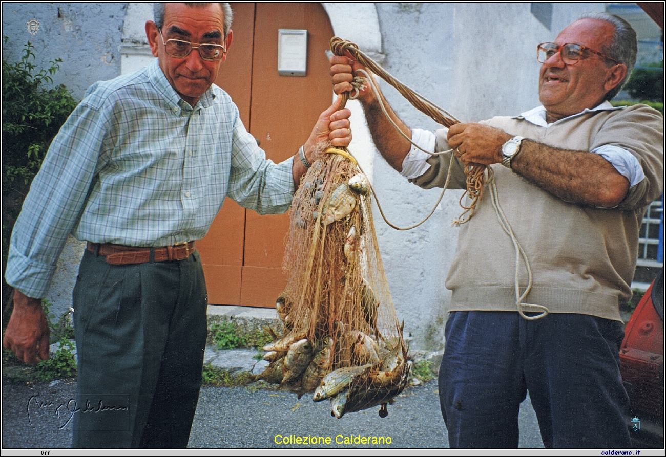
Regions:
<instances>
[{"instance_id":1,"label":"man in beige sweater and dark blue trousers, holding ropes","mask_svg":"<svg viewBox=\"0 0 666 457\"><path fill-rule=\"evenodd\" d=\"M626 21L587 13L538 46L543 106L435 134L410 130L388 110L420 147L451 151L439 156L394 130L382 94L360 92L378 150L414 184L443 186L452 164L449 187L462 189L465 166L492 168L533 275L517 300L513 241L484 198L460 230L446 280L453 293L439 381L451 447L516 447L528 390L546 447L631 446L618 307L631 298L643 213L663 192L663 117L645 105L609 103L636 50ZM334 90L350 90L360 68L332 57ZM525 267L517 274L524 291Z\"/></svg>"}]
</instances>

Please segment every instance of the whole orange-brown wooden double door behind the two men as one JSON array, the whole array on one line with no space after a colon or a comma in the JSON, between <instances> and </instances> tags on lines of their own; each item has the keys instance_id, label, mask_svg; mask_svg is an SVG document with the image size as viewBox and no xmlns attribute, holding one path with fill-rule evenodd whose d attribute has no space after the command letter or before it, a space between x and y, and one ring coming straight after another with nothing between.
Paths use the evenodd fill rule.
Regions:
<instances>
[{"instance_id":1,"label":"whole orange-brown wooden double door behind the two men","mask_svg":"<svg viewBox=\"0 0 666 457\"><path fill-rule=\"evenodd\" d=\"M282 162L307 140L330 106L325 51L333 31L320 3L232 3L234 41L216 84L228 92L266 156ZM278 29L308 30L307 76L278 75ZM197 242L208 303L274 307L282 273L288 214L259 216L227 199Z\"/></svg>"}]
</instances>

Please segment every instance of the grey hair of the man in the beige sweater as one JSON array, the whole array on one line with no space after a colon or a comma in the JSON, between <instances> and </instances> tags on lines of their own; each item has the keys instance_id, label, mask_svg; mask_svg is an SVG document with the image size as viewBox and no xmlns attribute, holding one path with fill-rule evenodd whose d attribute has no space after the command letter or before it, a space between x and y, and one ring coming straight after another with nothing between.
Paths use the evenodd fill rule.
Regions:
<instances>
[{"instance_id":1,"label":"grey hair of the man in the beige sweater","mask_svg":"<svg viewBox=\"0 0 666 457\"><path fill-rule=\"evenodd\" d=\"M617 86L609 90L604 97L604 100L612 100L627 83L633 66L636 65L636 54L638 53L636 32L627 21L611 13L583 13L578 18L578 20L580 19L598 19L599 21L611 23L615 27L613 43L610 46L605 46L604 49L599 49L601 53L627 66L627 75L625 75L624 79Z\"/></svg>"}]
</instances>

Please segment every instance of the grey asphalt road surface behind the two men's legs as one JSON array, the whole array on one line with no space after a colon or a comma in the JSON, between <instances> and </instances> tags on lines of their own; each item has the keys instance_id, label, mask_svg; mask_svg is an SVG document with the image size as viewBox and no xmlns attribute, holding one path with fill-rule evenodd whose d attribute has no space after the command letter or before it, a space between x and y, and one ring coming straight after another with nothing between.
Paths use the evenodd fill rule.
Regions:
<instances>
[{"instance_id":1,"label":"grey asphalt road surface behind the two men's legs","mask_svg":"<svg viewBox=\"0 0 666 457\"><path fill-rule=\"evenodd\" d=\"M3 448L69 448L74 381L34 386L3 381ZM244 387L204 387L190 435L190 448L448 448L440 413L437 382L408 387L390 405L387 418L378 408L354 412L341 419L330 416L330 403L300 400L288 392ZM62 405L62 406L61 406ZM543 448L529 397L519 416L521 448ZM276 444L276 435L330 437L331 444L299 446ZM390 444L378 446L335 444L346 436L383 436ZM280 441L281 438L278 438ZM353 439L353 438L352 438Z\"/></svg>"}]
</instances>

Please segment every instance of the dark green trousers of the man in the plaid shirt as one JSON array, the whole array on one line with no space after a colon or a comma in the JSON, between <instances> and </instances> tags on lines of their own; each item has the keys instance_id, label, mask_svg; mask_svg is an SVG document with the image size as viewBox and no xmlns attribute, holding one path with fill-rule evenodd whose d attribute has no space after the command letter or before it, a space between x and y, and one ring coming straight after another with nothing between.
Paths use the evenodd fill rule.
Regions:
<instances>
[{"instance_id":1,"label":"dark green trousers of the man in the plaid shirt","mask_svg":"<svg viewBox=\"0 0 666 457\"><path fill-rule=\"evenodd\" d=\"M75 448L184 448L206 344L201 259L109 265L85 251L74 288Z\"/></svg>"}]
</instances>

